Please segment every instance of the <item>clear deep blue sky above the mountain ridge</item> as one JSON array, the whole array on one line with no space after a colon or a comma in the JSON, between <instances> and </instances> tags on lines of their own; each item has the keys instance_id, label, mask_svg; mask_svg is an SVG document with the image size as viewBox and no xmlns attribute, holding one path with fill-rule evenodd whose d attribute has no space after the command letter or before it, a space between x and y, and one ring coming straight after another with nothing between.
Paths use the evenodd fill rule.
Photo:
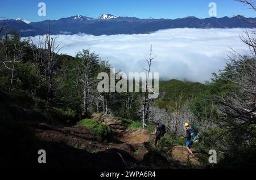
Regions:
<instances>
[{"instance_id":1,"label":"clear deep blue sky above the mountain ridge","mask_svg":"<svg viewBox=\"0 0 256 180\"><path fill-rule=\"evenodd\" d=\"M38 3L46 3L47 16L38 16ZM22 18L32 22L60 19L73 15L96 18L101 14L137 18L208 18L209 3L217 4L217 17L244 15L255 17L255 11L234 0L9 0L0 2L0 19Z\"/></svg>"}]
</instances>

